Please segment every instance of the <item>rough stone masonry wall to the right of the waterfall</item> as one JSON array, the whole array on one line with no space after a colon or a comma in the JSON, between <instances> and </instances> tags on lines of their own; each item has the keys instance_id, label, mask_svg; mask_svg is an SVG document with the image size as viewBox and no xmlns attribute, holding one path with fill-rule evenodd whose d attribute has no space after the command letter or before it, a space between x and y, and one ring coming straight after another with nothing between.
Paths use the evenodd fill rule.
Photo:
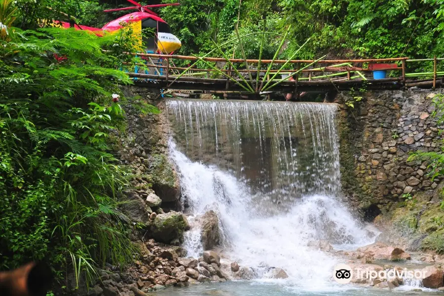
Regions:
<instances>
[{"instance_id":1,"label":"rough stone masonry wall to the right of the waterfall","mask_svg":"<svg viewBox=\"0 0 444 296\"><path fill-rule=\"evenodd\" d=\"M409 195L428 192L441 178L427 176L427 162L407 161L410 151L440 151L433 98L440 91L372 91L349 108L341 93L339 134L342 189L368 220L396 209Z\"/></svg>"}]
</instances>

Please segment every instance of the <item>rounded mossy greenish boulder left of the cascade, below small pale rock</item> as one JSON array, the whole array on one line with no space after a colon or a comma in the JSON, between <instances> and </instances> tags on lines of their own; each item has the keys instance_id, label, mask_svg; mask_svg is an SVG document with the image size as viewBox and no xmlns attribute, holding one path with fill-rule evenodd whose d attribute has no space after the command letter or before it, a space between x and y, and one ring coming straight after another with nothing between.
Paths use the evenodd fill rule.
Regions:
<instances>
[{"instance_id":1,"label":"rounded mossy greenish boulder left of the cascade, below small pale rock","mask_svg":"<svg viewBox=\"0 0 444 296\"><path fill-rule=\"evenodd\" d=\"M157 215L149 224L152 238L167 244L172 240L181 239L187 229L189 229L189 224L186 216L173 211Z\"/></svg>"}]
</instances>

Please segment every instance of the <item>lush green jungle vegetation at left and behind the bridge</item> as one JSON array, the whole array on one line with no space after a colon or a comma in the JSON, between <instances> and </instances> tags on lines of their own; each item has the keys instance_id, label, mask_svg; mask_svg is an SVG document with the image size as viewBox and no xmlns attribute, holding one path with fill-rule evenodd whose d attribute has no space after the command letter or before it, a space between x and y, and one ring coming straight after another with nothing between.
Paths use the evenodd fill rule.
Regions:
<instances>
[{"instance_id":1,"label":"lush green jungle vegetation at left and behind the bridge","mask_svg":"<svg viewBox=\"0 0 444 296\"><path fill-rule=\"evenodd\" d=\"M173 0L149 1L161 2ZM290 28L282 58L309 37L298 58L443 57L444 0L239 4L181 0L181 6L157 11L187 55L208 52L212 40L235 38L239 23L241 35L260 32L263 24L281 34ZM119 69L132 61L122 52L136 51L136 44L125 33L99 38L38 28L43 19L72 17L101 27L125 13L103 9L128 5L125 0L0 0L0 270L39 259L57 266L59 279L71 270L77 279L82 272L92 278L107 262L125 265L132 259L132 225L117 210L132 175L113 155L125 124L111 95L119 94L119 84L131 83ZM259 38L243 40L247 57L258 57ZM267 36L263 58L271 58L279 42ZM236 48L225 50L241 58ZM432 66L421 67L424 72Z\"/></svg>"}]
</instances>

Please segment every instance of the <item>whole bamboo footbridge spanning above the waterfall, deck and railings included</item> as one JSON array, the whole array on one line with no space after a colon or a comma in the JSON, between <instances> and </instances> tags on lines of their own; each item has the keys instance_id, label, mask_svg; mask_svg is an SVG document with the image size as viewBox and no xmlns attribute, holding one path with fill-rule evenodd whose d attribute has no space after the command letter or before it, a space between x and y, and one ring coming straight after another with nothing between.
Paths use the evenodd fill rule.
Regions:
<instances>
[{"instance_id":1,"label":"whole bamboo footbridge spanning above the waterfall, deck and railings included","mask_svg":"<svg viewBox=\"0 0 444 296\"><path fill-rule=\"evenodd\" d=\"M200 90L213 93L264 94L313 91L387 90L409 87L437 88L444 85L444 72L432 59L350 59L350 60L252 60L181 55L136 54L134 78L139 87L164 90ZM176 63L188 63L177 67ZM433 61L434 71L408 73L408 64ZM192 65L191 65L192 63ZM202 68L205 65L205 68ZM198 67L200 66L200 67ZM267 68L267 69L261 69ZM273 68L279 68L275 70ZM258 70L259 69L259 70ZM388 77L374 79L374 71ZM291 78L290 78L291 77Z\"/></svg>"}]
</instances>

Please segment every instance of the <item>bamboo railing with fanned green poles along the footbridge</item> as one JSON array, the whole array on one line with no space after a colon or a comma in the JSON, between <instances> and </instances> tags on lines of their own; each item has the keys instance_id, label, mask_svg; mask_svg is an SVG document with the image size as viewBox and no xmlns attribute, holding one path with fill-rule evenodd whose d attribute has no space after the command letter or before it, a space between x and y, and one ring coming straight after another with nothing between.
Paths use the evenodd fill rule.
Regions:
<instances>
[{"instance_id":1,"label":"bamboo railing with fanned green poles along the footbridge","mask_svg":"<svg viewBox=\"0 0 444 296\"><path fill-rule=\"evenodd\" d=\"M438 81L438 77L443 77L444 72L437 71L437 65L439 61L444 60L444 58L434 57L433 59L409 59L407 57L400 58L386 58L386 59L344 59L344 60L325 60L324 58L318 60L262 60L262 59L229 59L226 56L224 58L216 57L198 57L198 56L184 56L184 55L163 55L163 54L147 54L147 53L137 53L138 57L141 57L147 64L137 64L140 67L148 67L156 70L157 75L152 74L130 74L132 77L138 79L155 79L166 81L168 88L174 88L172 85L175 82L196 82L196 83L222 83L223 80L226 83L226 91L231 82L243 82L240 85L245 91L250 93L260 93L263 91L273 90L276 86L284 83L285 85L291 85L297 91L299 85L324 85L332 83L333 85L347 84L346 81L351 80L368 80L368 82L378 81L382 82L401 82L404 87L406 86L422 86L429 85L436 88L437 84L444 85L443 79ZM165 61L161 65L159 63L154 64L152 59L160 59ZM177 67L174 60L189 61L194 62L190 67ZM423 72L423 73L407 73L407 63L415 62L434 62L433 72ZM150 62L150 64L148 64ZM197 62L202 62L207 67L198 68ZM211 63L223 63L223 66L217 68ZM387 78L372 80L366 78L363 73L369 73L373 70L365 67L369 63L396 63L398 66L396 68L388 69L387 71L394 71L399 73L398 78ZM235 65L248 65L247 69L237 69ZM225 65L228 65L228 69L224 69ZM258 66L267 66L267 70L258 69ZM280 70L272 69L272 67L280 65ZM283 66L282 66L283 65ZM291 67L291 69L283 70L284 66ZM256 67L256 69L255 69ZM240 68L240 67L239 67ZM158 75L159 69L162 69L163 75ZM397 71L397 72L396 72ZM392 73L394 73L392 72ZM222 75L222 79L211 79L212 74ZM247 75L248 74L248 75ZM256 77L253 79L252 74ZM259 85L259 75L267 74L264 77L262 83ZM282 78L277 78L278 74L282 74ZM293 81L289 81L285 75L291 75L294 77ZM202 76L206 76L205 78ZM213 75L214 76L214 75ZM245 76L245 77L244 77ZM272 76L272 77L270 77ZM415 82L412 78L418 77L432 77L433 79L426 81ZM250 78L250 82L246 79ZM407 79L410 79L407 82ZM256 80L256 83L255 81ZM344 82L345 81L345 82ZM422 84L421 84L422 83ZM240 84L240 83L238 83Z\"/></svg>"}]
</instances>

